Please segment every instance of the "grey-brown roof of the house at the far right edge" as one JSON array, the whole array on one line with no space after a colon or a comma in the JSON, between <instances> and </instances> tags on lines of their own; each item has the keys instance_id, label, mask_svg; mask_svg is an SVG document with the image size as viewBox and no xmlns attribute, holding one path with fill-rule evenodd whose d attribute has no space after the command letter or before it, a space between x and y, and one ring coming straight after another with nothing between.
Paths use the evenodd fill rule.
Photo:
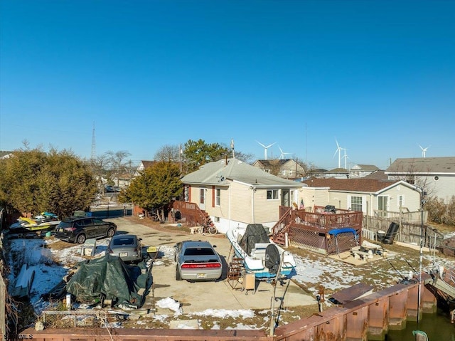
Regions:
<instances>
[{"instance_id":1,"label":"grey-brown roof of the house at the far right edge","mask_svg":"<svg viewBox=\"0 0 455 341\"><path fill-rule=\"evenodd\" d=\"M385 174L455 174L455 157L410 157L396 159Z\"/></svg>"}]
</instances>

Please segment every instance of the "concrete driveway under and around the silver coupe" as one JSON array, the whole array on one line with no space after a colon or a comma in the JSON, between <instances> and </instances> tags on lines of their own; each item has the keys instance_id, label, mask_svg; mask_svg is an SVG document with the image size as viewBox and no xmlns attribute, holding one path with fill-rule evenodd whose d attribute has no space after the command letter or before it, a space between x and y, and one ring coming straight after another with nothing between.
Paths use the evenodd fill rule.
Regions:
<instances>
[{"instance_id":1,"label":"concrete driveway under and around the silver coupe","mask_svg":"<svg viewBox=\"0 0 455 341\"><path fill-rule=\"evenodd\" d=\"M311 305L316 303L314 296L309 295L292 280L286 280L282 285L274 285L266 281L256 281L256 290L242 290L242 284L226 279L228 263L232 258L230 243L224 234L218 235L191 235L175 231L159 231L149 226L135 224L124 218L106 219L117 224L117 233L137 234L142 238L144 246L156 246L166 252L159 252L154 261L152 276L154 284L146 299L143 308L149 308L156 314L173 314L168 308L159 308L156 305L161 299L173 298L178 301L183 313L203 312L207 309L215 310L243 310L243 309L270 309L272 298L275 295L274 306L289 308L297 305ZM176 262L173 253L169 252L178 241L185 240L209 241L223 258L223 277L215 282L195 282L176 280ZM232 286L234 288L232 288Z\"/></svg>"}]
</instances>

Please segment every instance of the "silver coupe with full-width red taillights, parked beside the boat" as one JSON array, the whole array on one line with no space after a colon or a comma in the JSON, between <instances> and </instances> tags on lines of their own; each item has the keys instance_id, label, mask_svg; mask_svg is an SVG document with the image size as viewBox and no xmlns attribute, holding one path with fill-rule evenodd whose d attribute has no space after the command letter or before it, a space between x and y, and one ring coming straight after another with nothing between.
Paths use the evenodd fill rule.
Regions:
<instances>
[{"instance_id":1,"label":"silver coupe with full-width red taillights, parked beside the boat","mask_svg":"<svg viewBox=\"0 0 455 341\"><path fill-rule=\"evenodd\" d=\"M176 243L176 280L218 280L223 271L220 255L208 241Z\"/></svg>"}]
</instances>

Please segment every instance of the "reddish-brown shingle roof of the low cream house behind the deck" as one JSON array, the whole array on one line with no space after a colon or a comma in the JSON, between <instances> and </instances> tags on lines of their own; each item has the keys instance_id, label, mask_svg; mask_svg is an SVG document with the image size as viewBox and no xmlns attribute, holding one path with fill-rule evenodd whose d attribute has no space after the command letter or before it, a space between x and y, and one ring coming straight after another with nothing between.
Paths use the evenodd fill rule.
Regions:
<instances>
[{"instance_id":1,"label":"reddish-brown shingle roof of the low cream house behind the deck","mask_svg":"<svg viewBox=\"0 0 455 341\"><path fill-rule=\"evenodd\" d=\"M378 179L318 179L311 178L304 181L309 187L328 187L332 191L344 191L344 192L367 192L376 193L382 192L384 189L391 187L398 182L405 184L408 187L412 187L411 184L403 182L401 180L378 180Z\"/></svg>"}]
</instances>

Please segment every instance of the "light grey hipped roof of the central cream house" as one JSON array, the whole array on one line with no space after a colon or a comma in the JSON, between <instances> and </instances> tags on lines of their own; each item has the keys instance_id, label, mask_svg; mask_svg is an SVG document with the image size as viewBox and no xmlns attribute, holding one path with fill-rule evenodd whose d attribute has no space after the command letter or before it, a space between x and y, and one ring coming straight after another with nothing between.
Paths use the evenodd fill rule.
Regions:
<instances>
[{"instance_id":1,"label":"light grey hipped roof of the central cream house","mask_svg":"<svg viewBox=\"0 0 455 341\"><path fill-rule=\"evenodd\" d=\"M226 163L228 162L228 163ZM230 181L242 182L254 187L289 187L299 188L302 185L264 172L239 159L220 159L204 164L195 172L186 174L181 179L184 184L208 184L228 186Z\"/></svg>"}]
</instances>

